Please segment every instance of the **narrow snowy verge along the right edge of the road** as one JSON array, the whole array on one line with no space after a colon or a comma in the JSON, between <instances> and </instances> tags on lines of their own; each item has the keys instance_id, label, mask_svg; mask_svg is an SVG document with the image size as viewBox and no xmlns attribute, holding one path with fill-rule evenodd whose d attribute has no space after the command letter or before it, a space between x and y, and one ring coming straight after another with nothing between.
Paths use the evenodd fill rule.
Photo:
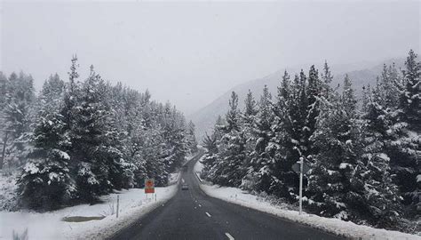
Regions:
<instances>
[{"instance_id":1,"label":"narrow snowy verge along the right edge of the road","mask_svg":"<svg viewBox=\"0 0 421 240\"><path fill-rule=\"evenodd\" d=\"M203 164L195 164L195 172L201 172ZM199 175L199 174L197 174ZM351 221L323 218L314 214L303 212L299 215L298 211L291 211L280 206L270 204L261 197L244 192L240 188L224 188L217 185L200 184L200 187L208 196L222 199L226 202L240 204L245 207L256 209L261 212L268 212L284 219L294 220L306 224L313 228L319 228L324 231L346 236L352 239L402 239L402 240L420 240L421 236L409 235L398 231L391 231L368 226L357 225Z\"/></svg>"}]
</instances>

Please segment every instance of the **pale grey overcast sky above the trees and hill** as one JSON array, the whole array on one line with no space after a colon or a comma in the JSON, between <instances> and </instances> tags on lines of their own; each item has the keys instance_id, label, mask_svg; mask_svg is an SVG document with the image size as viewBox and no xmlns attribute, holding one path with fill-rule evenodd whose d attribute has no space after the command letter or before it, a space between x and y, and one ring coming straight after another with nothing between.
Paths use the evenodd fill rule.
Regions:
<instances>
[{"instance_id":1,"label":"pale grey overcast sky above the trees and hill","mask_svg":"<svg viewBox=\"0 0 421 240\"><path fill-rule=\"evenodd\" d=\"M419 52L420 3L3 2L0 70L22 69L39 89L52 73L67 79L77 53L83 77L93 64L190 114L285 67Z\"/></svg>"}]
</instances>

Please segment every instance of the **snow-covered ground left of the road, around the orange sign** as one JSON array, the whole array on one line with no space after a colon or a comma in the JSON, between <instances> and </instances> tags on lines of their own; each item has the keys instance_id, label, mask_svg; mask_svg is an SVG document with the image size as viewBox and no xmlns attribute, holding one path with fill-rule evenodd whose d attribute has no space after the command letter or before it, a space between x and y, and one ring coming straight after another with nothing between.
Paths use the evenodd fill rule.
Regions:
<instances>
[{"instance_id":1,"label":"snow-covered ground left of the road, around the orange sign","mask_svg":"<svg viewBox=\"0 0 421 240\"><path fill-rule=\"evenodd\" d=\"M143 189L132 188L102 196L103 204L81 204L46 213L0 212L0 239L12 239L13 230L21 234L26 228L29 239L103 239L164 204L176 191L176 185L155 188L155 201L155 196L146 196ZM115 216L117 196L120 197L118 219ZM105 218L84 222L62 221L70 216Z\"/></svg>"}]
</instances>

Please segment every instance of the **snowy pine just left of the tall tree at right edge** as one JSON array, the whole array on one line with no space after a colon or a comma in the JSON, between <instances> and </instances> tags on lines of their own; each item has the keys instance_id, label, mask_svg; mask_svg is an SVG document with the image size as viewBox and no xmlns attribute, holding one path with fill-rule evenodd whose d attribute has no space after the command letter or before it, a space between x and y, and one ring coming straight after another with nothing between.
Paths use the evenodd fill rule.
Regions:
<instances>
[{"instance_id":1,"label":"snowy pine just left of the tall tree at right edge","mask_svg":"<svg viewBox=\"0 0 421 240\"><path fill-rule=\"evenodd\" d=\"M401 212L390 156L396 153L397 148L391 143L396 140L396 134L401 134L402 125L396 122L393 106L387 106L385 92L390 90L385 88L392 85L386 81L378 78L376 88L369 92L367 111L362 115L363 154L353 178L354 188L361 190L354 200L354 206L360 210L360 219L379 227L395 225Z\"/></svg>"}]
</instances>

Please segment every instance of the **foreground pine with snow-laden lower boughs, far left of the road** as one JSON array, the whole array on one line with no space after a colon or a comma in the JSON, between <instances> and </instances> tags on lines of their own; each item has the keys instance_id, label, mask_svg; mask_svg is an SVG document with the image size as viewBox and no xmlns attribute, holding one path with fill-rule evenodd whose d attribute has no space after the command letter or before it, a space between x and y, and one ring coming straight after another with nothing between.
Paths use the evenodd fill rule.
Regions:
<instances>
[{"instance_id":1,"label":"foreground pine with snow-laden lower boughs, far left of the road","mask_svg":"<svg viewBox=\"0 0 421 240\"><path fill-rule=\"evenodd\" d=\"M64 82L60 77L50 76L39 97L41 109L31 141L34 148L18 180L20 204L29 208L57 209L68 204L75 193L66 152L69 139L60 115L63 92Z\"/></svg>"}]
</instances>

